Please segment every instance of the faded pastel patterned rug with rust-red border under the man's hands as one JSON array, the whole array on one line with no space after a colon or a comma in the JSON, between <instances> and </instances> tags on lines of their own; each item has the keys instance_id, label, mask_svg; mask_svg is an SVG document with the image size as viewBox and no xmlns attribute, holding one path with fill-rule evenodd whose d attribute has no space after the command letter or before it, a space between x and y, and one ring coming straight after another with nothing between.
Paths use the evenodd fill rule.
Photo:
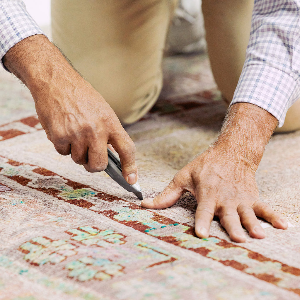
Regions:
<instances>
[{"instance_id":1,"label":"faded pastel patterned rug with rust-red border under the man's hands","mask_svg":"<svg viewBox=\"0 0 300 300\"><path fill-rule=\"evenodd\" d=\"M217 136L226 106L206 55L164 61L164 89L126 130L144 197L159 193ZM148 210L104 172L55 152L26 88L0 72L0 299L300 299L300 132L272 137L261 199L289 221L232 242L217 219L194 234L196 202Z\"/></svg>"}]
</instances>

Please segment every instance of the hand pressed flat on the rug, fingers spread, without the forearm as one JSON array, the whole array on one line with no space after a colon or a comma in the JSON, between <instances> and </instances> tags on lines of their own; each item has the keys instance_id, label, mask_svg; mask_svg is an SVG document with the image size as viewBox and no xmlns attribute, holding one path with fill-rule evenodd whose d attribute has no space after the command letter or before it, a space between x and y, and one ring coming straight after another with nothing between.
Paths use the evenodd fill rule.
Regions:
<instances>
[{"instance_id":1,"label":"hand pressed flat on the rug, fingers spread, without the forearm","mask_svg":"<svg viewBox=\"0 0 300 300\"><path fill-rule=\"evenodd\" d=\"M217 147L208 149L182 168L163 192L154 199L143 200L142 206L167 208L189 191L198 203L195 232L200 238L208 237L214 216L219 217L221 225L236 242L246 240L242 225L253 238L265 237L256 216L274 227L286 229L286 221L259 200L254 171L243 161L234 160L230 153L227 155Z\"/></svg>"}]
</instances>

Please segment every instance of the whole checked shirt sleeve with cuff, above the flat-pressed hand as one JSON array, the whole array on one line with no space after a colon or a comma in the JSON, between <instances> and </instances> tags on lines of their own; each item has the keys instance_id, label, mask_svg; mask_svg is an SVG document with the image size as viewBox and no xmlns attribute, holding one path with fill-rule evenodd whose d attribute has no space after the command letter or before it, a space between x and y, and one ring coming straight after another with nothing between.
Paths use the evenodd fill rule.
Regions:
<instances>
[{"instance_id":1,"label":"whole checked shirt sleeve with cuff, above the flat-pressed hand","mask_svg":"<svg viewBox=\"0 0 300 300\"><path fill-rule=\"evenodd\" d=\"M300 0L256 0L246 60L231 104L248 102L283 125L300 98Z\"/></svg>"}]
</instances>

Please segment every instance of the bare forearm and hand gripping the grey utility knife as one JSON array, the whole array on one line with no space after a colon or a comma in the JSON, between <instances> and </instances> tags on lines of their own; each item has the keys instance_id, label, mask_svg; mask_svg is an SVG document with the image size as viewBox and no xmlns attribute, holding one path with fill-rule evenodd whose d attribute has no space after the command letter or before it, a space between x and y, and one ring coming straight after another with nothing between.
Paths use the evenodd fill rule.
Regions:
<instances>
[{"instance_id":1,"label":"bare forearm and hand gripping the grey utility knife","mask_svg":"<svg viewBox=\"0 0 300 300\"><path fill-rule=\"evenodd\" d=\"M107 144L119 153L123 176L137 182L135 146L109 104L44 35L13 46L4 65L30 90L48 139L89 172L107 167Z\"/></svg>"}]
</instances>

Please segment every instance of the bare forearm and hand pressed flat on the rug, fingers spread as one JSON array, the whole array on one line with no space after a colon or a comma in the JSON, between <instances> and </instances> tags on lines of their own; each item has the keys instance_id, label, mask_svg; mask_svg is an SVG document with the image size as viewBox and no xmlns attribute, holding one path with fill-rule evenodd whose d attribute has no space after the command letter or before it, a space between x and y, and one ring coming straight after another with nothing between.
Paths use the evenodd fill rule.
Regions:
<instances>
[{"instance_id":1,"label":"bare forearm and hand pressed flat on the rug, fingers spread","mask_svg":"<svg viewBox=\"0 0 300 300\"><path fill-rule=\"evenodd\" d=\"M286 229L287 223L269 205L259 200L255 172L277 120L253 104L232 105L217 141L180 170L154 199L143 200L146 208L167 208L187 191L198 203L195 231L207 238L215 216L230 238L246 240L242 225L254 238L265 233L256 216Z\"/></svg>"}]
</instances>

